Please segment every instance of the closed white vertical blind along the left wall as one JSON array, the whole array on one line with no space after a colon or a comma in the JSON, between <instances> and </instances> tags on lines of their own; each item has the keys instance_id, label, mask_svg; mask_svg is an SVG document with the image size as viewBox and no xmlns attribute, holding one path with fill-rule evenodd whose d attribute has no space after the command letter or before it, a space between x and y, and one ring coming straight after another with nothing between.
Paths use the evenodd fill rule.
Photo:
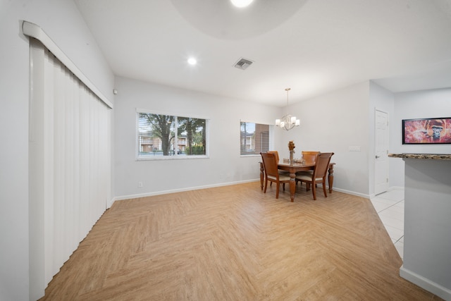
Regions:
<instances>
[{"instance_id":1,"label":"closed white vertical blind along the left wall","mask_svg":"<svg viewBox=\"0 0 451 301\"><path fill-rule=\"evenodd\" d=\"M36 192L30 202L37 202L30 215L42 216L30 218L30 237L37 235L30 240L30 252L36 247L43 258L30 257L30 266L35 266L30 277L42 278L37 280L44 285L43 295L51 278L106 210L111 110L42 44L32 41L31 47L32 68L42 65L43 70L33 70L31 78L30 125L37 134L30 134L30 168L34 168L30 191ZM33 163L39 160L44 164ZM33 178L38 175L44 178ZM32 229L32 223L39 221L44 223L42 230Z\"/></svg>"}]
</instances>

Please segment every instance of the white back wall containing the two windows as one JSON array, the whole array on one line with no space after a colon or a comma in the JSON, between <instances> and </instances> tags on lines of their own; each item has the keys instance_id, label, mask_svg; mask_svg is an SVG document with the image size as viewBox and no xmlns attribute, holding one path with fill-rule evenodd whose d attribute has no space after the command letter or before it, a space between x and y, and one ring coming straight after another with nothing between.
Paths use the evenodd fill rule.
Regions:
<instances>
[{"instance_id":1,"label":"white back wall containing the two windows","mask_svg":"<svg viewBox=\"0 0 451 301\"><path fill-rule=\"evenodd\" d=\"M259 179L261 157L240 157L240 121L272 124L279 108L127 78L116 89L116 199ZM209 158L136 161L137 108L209 118Z\"/></svg>"}]
</instances>

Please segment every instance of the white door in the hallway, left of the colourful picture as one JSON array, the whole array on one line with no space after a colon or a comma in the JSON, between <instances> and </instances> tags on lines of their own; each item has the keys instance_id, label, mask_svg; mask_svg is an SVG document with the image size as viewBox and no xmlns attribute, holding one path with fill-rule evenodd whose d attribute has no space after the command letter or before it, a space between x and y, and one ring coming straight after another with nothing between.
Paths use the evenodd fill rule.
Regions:
<instances>
[{"instance_id":1,"label":"white door in the hallway, left of the colourful picture","mask_svg":"<svg viewBox=\"0 0 451 301\"><path fill-rule=\"evenodd\" d=\"M375 123L376 158L374 178L376 179L376 185L374 193L378 195L388 190L388 114L376 110Z\"/></svg>"}]
</instances>

